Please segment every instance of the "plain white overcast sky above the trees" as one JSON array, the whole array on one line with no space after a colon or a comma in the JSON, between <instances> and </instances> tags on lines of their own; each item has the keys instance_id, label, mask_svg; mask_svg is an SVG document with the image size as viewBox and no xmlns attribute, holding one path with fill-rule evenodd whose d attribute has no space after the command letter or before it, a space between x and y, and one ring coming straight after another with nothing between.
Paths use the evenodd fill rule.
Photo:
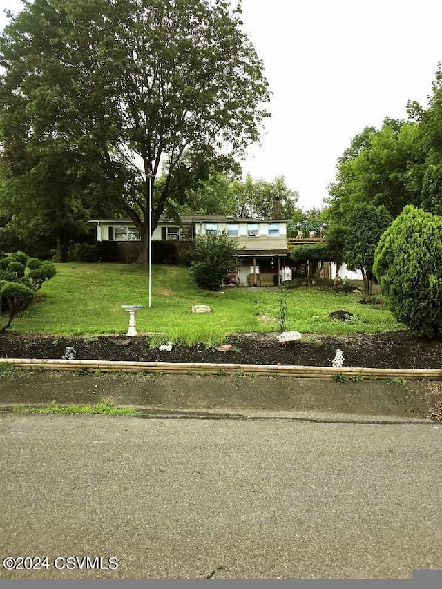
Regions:
<instances>
[{"instance_id":1,"label":"plain white overcast sky above the trees","mask_svg":"<svg viewBox=\"0 0 442 589\"><path fill-rule=\"evenodd\" d=\"M8 7L21 10L19 0ZM442 2L242 0L242 8L273 92L244 173L284 175L300 206L321 206L354 135L386 116L405 118L408 99L426 106L442 61Z\"/></svg>"}]
</instances>

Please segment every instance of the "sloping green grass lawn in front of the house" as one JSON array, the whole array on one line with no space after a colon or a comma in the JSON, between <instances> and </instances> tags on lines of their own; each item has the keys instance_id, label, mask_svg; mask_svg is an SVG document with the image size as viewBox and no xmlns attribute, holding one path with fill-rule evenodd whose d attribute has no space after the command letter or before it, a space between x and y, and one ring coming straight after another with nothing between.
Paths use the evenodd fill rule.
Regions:
<instances>
[{"instance_id":1,"label":"sloping green grass lawn in front of the house","mask_svg":"<svg viewBox=\"0 0 442 589\"><path fill-rule=\"evenodd\" d=\"M356 334L404 329L382 305L361 305L360 294L317 289L288 291L289 329L302 333ZM120 305L146 305L137 313L139 334L213 345L234 332L278 331L278 289L229 288L200 291L186 268L152 267L152 307L148 309L148 270L128 264L57 264L57 276L44 284L32 305L12 324L14 331L57 335L125 334L128 313ZM211 313L191 313L192 305ZM331 311L354 314L350 322L330 320ZM262 322L260 316L274 318Z\"/></svg>"}]
</instances>

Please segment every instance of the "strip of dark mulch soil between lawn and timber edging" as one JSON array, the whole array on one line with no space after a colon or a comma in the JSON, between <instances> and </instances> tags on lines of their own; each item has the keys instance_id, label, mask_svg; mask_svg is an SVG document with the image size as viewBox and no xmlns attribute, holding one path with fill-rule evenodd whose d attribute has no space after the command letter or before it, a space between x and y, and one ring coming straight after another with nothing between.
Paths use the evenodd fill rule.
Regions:
<instances>
[{"instance_id":1,"label":"strip of dark mulch soil between lawn and timber edging","mask_svg":"<svg viewBox=\"0 0 442 589\"><path fill-rule=\"evenodd\" d=\"M174 345L168 352L151 349L146 335L55 338L10 331L0 334L0 358L56 359L70 346L77 360L331 366L340 349L345 367L438 369L442 364L442 340L417 338L407 331L376 336L309 335L286 344L279 343L275 334L236 334L228 343L233 351Z\"/></svg>"}]
</instances>

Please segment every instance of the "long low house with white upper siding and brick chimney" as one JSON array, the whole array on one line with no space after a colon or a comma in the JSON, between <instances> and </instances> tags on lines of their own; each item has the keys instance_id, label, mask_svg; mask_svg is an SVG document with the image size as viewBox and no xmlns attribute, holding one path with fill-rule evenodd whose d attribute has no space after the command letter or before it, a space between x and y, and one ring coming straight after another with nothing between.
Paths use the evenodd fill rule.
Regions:
<instances>
[{"instance_id":1,"label":"long low house with white upper siding and brick chimney","mask_svg":"<svg viewBox=\"0 0 442 589\"><path fill-rule=\"evenodd\" d=\"M276 209L278 212L278 209ZM274 286L287 278L288 219L246 219L221 215L187 215L176 220L160 217L153 231L153 241L190 242L195 235L227 231L241 250L236 268L229 275L231 284ZM127 219L91 220L97 228L97 241L118 243L119 260L134 262L140 237L134 224Z\"/></svg>"}]
</instances>

